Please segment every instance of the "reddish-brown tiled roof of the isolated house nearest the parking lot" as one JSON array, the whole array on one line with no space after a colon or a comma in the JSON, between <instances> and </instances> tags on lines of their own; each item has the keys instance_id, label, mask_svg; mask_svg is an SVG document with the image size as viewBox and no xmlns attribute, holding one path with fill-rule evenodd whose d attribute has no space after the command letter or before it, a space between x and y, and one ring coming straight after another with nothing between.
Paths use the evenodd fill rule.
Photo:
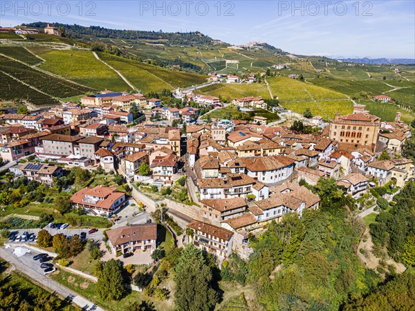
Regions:
<instances>
[{"instance_id":1,"label":"reddish-brown tiled roof of the isolated house nearest the parking lot","mask_svg":"<svg viewBox=\"0 0 415 311\"><path fill-rule=\"evenodd\" d=\"M108 230L107 236L112 245L121 245L132 241L156 240L157 224L142 223L119 227Z\"/></svg>"}]
</instances>

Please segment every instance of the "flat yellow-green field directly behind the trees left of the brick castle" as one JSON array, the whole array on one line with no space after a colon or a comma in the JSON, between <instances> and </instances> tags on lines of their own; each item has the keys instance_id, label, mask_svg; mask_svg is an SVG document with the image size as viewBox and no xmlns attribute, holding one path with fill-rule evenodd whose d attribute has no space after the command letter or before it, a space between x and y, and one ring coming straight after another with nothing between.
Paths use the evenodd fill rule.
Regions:
<instances>
[{"instance_id":1,"label":"flat yellow-green field directly behind the trees left of the brick castle","mask_svg":"<svg viewBox=\"0 0 415 311\"><path fill-rule=\"evenodd\" d=\"M321 115L324 120L330 120L335 117L335 113L347 115L353 113L353 103L351 100L317 100L316 102L286 102L282 103L286 109L296 113L304 113L309 108L313 115Z\"/></svg>"}]
</instances>

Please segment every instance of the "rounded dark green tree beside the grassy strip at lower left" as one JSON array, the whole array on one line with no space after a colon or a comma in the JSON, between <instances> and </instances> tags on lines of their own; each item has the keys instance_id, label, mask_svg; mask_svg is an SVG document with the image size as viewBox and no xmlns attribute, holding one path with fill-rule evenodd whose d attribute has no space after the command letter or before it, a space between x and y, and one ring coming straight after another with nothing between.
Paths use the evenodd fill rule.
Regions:
<instances>
[{"instance_id":1,"label":"rounded dark green tree beside the grassy strip at lower left","mask_svg":"<svg viewBox=\"0 0 415 311\"><path fill-rule=\"evenodd\" d=\"M105 263L98 277L97 292L105 301L120 300L126 293L122 278L122 263L111 259Z\"/></svg>"}]
</instances>

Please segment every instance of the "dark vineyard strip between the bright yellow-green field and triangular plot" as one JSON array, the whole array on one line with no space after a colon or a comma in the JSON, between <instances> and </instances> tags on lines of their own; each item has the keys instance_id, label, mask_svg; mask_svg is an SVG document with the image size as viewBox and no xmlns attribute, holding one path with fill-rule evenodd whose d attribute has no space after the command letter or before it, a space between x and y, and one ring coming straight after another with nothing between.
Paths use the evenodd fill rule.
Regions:
<instances>
[{"instance_id":1,"label":"dark vineyard strip between the bright yellow-green field and triangular plot","mask_svg":"<svg viewBox=\"0 0 415 311\"><path fill-rule=\"evenodd\" d=\"M7 57L0 57L0 64L0 69L3 72L53 97L69 97L93 91L86 86L52 77Z\"/></svg>"}]
</instances>

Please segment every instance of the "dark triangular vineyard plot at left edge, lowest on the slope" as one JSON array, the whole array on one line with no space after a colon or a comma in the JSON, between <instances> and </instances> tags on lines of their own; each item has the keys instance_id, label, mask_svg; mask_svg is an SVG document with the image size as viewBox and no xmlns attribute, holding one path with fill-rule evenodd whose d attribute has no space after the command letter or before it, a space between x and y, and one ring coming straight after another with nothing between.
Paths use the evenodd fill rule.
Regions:
<instances>
[{"instance_id":1,"label":"dark triangular vineyard plot at left edge, lowest on the slope","mask_svg":"<svg viewBox=\"0 0 415 311\"><path fill-rule=\"evenodd\" d=\"M27 100L35 105L53 105L57 100L0 72L0 100Z\"/></svg>"}]
</instances>

